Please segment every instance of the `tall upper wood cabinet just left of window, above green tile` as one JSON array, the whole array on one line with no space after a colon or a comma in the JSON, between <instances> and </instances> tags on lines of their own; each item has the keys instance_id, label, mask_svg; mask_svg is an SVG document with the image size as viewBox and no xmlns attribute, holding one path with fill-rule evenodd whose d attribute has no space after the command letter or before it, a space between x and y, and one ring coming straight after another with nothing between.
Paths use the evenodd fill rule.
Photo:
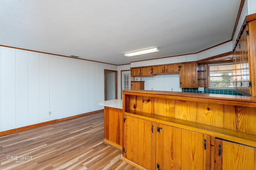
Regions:
<instances>
[{"instance_id":1,"label":"tall upper wood cabinet just left of window, above green tile","mask_svg":"<svg viewBox=\"0 0 256 170\"><path fill-rule=\"evenodd\" d=\"M197 87L197 63L181 64L180 87Z\"/></svg>"}]
</instances>

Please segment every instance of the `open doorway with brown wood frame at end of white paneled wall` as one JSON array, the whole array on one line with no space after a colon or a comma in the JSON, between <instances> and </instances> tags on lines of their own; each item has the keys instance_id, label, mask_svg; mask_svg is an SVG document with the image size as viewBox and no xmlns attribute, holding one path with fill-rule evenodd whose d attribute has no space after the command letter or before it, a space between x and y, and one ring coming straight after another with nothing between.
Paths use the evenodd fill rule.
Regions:
<instances>
[{"instance_id":1,"label":"open doorway with brown wood frame at end of white paneled wall","mask_svg":"<svg viewBox=\"0 0 256 170\"><path fill-rule=\"evenodd\" d=\"M104 70L104 100L117 99L117 71Z\"/></svg>"}]
</instances>

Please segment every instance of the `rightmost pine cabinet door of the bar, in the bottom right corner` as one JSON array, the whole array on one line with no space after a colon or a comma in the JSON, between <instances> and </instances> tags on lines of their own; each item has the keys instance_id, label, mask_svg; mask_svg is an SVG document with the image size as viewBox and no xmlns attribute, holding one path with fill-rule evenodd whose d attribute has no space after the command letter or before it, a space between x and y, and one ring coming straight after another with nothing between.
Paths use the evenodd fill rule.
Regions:
<instances>
[{"instance_id":1,"label":"rightmost pine cabinet door of the bar, in the bottom right corner","mask_svg":"<svg viewBox=\"0 0 256 170\"><path fill-rule=\"evenodd\" d=\"M255 170L255 148L215 139L216 170Z\"/></svg>"}]
</instances>

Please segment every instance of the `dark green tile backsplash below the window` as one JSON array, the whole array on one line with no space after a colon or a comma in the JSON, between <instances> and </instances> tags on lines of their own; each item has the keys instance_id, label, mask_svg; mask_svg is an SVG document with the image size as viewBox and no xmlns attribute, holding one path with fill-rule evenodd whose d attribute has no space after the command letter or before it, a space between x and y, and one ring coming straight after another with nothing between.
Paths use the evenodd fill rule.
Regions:
<instances>
[{"instance_id":1,"label":"dark green tile backsplash below the window","mask_svg":"<svg viewBox=\"0 0 256 170\"><path fill-rule=\"evenodd\" d=\"M182 92L190 92L190 93L202 93L198 91L198 88L182 88ZM243 96L242 94L234 91L234 90L215 90L215 89L204 89L204 93L209 94L228 94L228 95L238 95Z\"/></svg>"}]
</instances>

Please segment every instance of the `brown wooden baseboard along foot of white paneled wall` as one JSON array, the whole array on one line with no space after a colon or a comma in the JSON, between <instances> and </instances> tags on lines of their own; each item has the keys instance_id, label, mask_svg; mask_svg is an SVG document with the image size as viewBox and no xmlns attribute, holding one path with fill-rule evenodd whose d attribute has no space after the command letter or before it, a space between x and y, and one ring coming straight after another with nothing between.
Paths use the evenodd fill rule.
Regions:
<instances>
[{"instance_id":1,"label":"brown wooden baseboard along foot of white paneled wall","mask_svg":"<svg viewBox=\"0 0 256 170\"><path fill-rule=\"evenodd\" d=\"M7 130L7 131L0 132L0 135L7 135L9 133L14 133L14 132L18 132L18 131L22 131L22 130L26 130L26 129L31 129L33 127L38 127L38 126L42 126L42 125L48 125L50 123L56 123L56 122L59 122L59 121L65 121L65 120L69 120L69 119L74 119L76 117L81 117L81 116L84 116L84 115L98 113L98 112L101 112L101 111L104 111L104 109L96 110L96 111L91 111L91 112L87 112L87 113L82 113L82 114L74 115L74 116L70 116L70 117L65 117L65 118L62 118L62 119L55 119L55 120L51 120L51 121L45 121L45 122L42 122L42 123L36 123L34 125L28 125L28 126L24 126L24 127L19 127L19 128L16 128L16 129L10 129L10 130Z\"/></svg>"}]
</instances>

